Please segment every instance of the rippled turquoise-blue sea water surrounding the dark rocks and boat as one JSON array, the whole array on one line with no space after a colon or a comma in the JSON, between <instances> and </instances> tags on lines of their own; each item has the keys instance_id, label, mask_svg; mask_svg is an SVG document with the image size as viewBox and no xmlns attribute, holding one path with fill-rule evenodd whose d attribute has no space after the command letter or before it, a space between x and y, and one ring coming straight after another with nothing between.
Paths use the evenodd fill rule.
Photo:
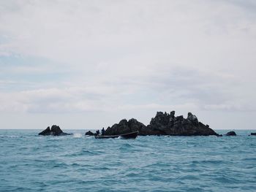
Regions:
<instances>
[{"instance_id":1,"label":"rippled turquoise-blue sea water surrounding the dark rocks and boat","mask_svg":"<svg viewBox=\"0 0 256 192\"><path fill-rule=\"evenodd\" d=\"M252 131L129 140L39 131L0 130L0 191L256 191Z\"/></svg>"}]
</instances>

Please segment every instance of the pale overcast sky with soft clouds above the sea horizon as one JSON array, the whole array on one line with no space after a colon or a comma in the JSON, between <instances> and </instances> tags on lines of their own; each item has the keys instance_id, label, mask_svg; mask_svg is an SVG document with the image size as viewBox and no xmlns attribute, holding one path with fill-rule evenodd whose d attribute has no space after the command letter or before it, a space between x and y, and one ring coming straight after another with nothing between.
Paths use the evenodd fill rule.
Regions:
<instances>
[{"instance_id":1,"label":"pale overcast sky with soft clouds above the sea horizon","mask_svg":"<svg viewBox=\"0 0 256 192\"><path fill-rule=\"evenodd\" d=\"M254 0L1 0L0 128L255 129L255 62Z\"/></svg>"}]
</instances>

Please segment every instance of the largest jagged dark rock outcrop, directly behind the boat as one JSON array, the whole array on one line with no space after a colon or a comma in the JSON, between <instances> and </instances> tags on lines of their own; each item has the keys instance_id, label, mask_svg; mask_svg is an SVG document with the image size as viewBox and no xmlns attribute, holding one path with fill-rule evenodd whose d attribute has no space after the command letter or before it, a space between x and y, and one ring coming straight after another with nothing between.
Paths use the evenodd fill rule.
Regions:
<instances>
[{"instance_id":1,"label":"largest jagged dark rock outcrop, directly behind the boat","mask_svg":"<svg viewBox=\"0 0 256 192\"><path fill-rule=\"evenodd\" d=\"M219 136L214 130L197 120L197 117L191 112L187 118L182 115L175 117L175 111L157 112L157 115L151 119L148 126L138 122L138 120L121 120L119 123L108 127L106 135L127 134L132 131L139 131L139 135L172 135L172 136Z\"/></svg>"}]
</instances>

